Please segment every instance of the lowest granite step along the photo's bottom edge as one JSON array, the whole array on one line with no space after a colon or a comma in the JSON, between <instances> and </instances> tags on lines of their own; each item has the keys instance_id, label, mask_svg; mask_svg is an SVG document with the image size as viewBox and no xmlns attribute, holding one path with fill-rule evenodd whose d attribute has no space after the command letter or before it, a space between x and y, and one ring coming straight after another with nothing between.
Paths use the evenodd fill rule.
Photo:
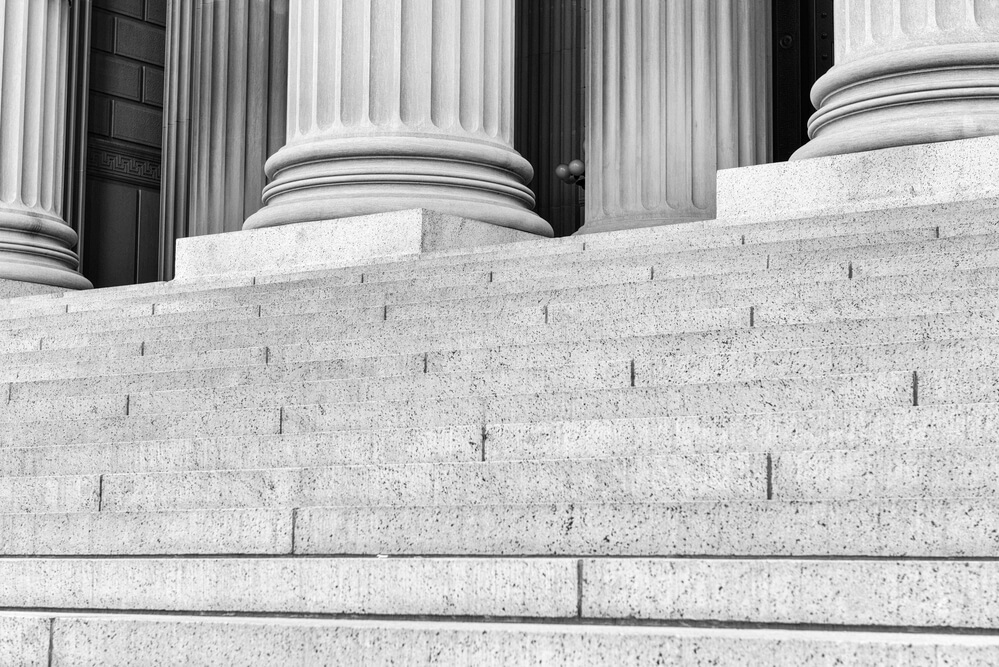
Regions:
<instances>
[{"instance_id":1,"label":"lowest granite step along the photo's bottom edge","mask_svg":"<svg viewBox=\"0 0 999 667\"><path fill-rule=\"evenodd\" d=\"M51 642L50 629L51 626ZM992 636L205 616L7 615L10 655L52 667L166 664L178 644L204 664L828 667L988 665ZM280 648L275 648L280 647ZM51 658L49 652L51 651ZM147 662L148 664L148 662Z\"/></svg>"}]
</instances>

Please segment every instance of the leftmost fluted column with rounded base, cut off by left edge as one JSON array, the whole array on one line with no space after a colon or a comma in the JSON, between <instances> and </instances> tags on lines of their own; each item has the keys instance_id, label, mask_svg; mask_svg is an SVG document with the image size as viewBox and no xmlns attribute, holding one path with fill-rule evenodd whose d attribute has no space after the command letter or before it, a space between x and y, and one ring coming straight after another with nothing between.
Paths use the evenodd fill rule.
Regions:
<instances>
[{"instance_id":1,"label":"leftmost fluted column with rounded base, cut off by left edge","mask_svg":"<svg viewBox=\"0 0 999 667\"><path fill-rule=\"evenodd\" d=\"M62 218L70 9L0 0L0 279L92 287Z\"/></svg>"}]
</instances>

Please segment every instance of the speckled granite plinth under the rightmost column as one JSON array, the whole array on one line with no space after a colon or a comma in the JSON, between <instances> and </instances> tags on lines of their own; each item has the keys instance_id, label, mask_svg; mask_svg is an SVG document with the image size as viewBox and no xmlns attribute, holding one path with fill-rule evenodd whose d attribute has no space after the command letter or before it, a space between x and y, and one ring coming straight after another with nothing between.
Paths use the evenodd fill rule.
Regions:
<instances>
[{"instance_id":1,"label":"speckled granite plinth under the rightmost column","mask_svg":"<svg viewBox=\"0 0 999 667\"><path fill-rule=\"evenodd\" d=\"M955 202L999 207L999 136L724 169L718 218L765 221Z\"/></svg>"}]
</instances>

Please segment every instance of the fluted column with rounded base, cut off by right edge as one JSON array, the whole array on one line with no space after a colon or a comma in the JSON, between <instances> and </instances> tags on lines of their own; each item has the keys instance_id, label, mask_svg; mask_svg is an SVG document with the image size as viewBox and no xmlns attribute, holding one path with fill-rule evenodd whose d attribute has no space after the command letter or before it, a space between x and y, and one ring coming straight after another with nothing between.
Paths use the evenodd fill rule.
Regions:
<instances>
[{"instance_id":1,"label":"fluted column with rounded base, cut off by right edge","mask_svg":"<svg viewBox=\"0 0 999 667\"><path fill-rule=\"evenodd\" d=\"M792 159L999 134L999 3L836 0L836 65Z\"/></svg>"}]
</instances>

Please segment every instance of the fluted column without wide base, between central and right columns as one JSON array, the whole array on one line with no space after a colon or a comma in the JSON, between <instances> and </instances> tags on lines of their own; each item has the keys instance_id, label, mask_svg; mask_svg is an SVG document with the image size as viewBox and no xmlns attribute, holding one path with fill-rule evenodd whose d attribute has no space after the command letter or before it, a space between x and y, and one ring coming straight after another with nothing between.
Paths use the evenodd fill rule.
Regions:
<instances>
[{"instance_id":1,"label":"fluted column without wide base, between central and right columns","mask_svg":"<svg viewBox=\"0 0 999 667\"><path fill-rule=\"evenodd\" d=\"M715 172L770 157L769 0L592 0L586 224L715 214Z\"/></svg>"}]
</instances>

